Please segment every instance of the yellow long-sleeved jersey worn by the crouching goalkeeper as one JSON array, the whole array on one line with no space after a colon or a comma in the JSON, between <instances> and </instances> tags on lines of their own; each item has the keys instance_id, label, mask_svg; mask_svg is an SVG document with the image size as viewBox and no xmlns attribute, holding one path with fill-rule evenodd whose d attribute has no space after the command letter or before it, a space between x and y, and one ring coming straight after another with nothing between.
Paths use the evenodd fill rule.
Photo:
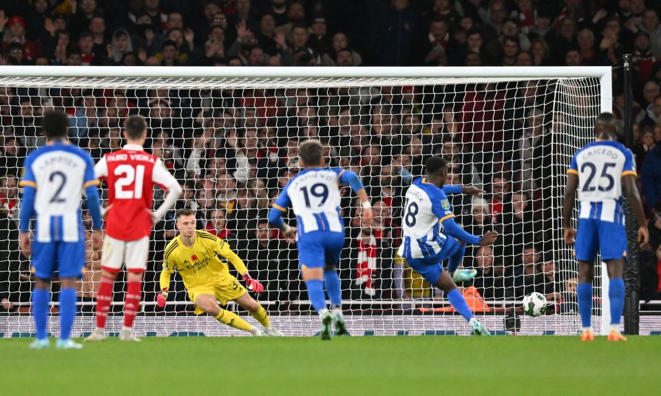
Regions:
<instances>
[{"instance_id":1,"label":"yellow long-sleeved jersey worn by the crouching goalkeeper","mask_svg":"<svg viewBox=\"0 0 661 396\"><path fill-rule=\"evenodd\" d=\"M229 244L208 231L195 231L195 242L187 247L181 236L176 236L165 247L163 253L163 271L160 273L160 289L169 288L170 275L177 270L184 281L186 289L223 281L232 276L227 263L220 257L226 258L240 273L246 273L246 265L229 248Z\"/></svg>"}]
</instances>

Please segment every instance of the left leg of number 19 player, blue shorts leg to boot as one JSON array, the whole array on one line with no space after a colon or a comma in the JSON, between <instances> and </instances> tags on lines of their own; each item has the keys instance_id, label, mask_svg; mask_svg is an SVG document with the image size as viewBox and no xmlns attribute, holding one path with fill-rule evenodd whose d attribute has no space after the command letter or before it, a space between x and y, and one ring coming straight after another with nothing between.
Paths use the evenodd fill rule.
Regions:
<instances>
[{"instance_id":1,"label":"left leg of number 19 player, blue shorts leg to boot","mask_svg":"<svg viewBox=\"0 0 661 396\"><path fill-rule=\"evenodd\" d=\"M313 308L322 318L322 329L319 337L322 340L330 340L330 325L333 317L326 307L326 295L324 293L324 247L319 242L321 238L317 235L306 234L305 238L298 242L299 266L303 282L308 289L308 298Z\"/></svg>"}]
</instances>

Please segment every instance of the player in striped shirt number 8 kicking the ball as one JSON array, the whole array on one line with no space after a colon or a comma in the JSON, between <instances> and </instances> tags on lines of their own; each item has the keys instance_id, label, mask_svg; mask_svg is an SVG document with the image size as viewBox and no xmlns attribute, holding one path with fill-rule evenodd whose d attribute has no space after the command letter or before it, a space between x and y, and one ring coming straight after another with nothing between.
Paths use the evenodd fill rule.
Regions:
<instances>
[{"instance_id":1,"label":"player in striped shirt number 8 kicking the ball","mask_svg":"<svg viewBox=\"0 0 661 396\"><path fill-rule=\"evenodd\" d=\"M426 177L414 180L406 191L399 256L423 278L445 293L454 309L468 320L473 334L489 335L485 326L473 316L448 271L443 271L443 261L448 260L449 272L456 271L463 260L465 244L487 246L496 241L498 233L487 231L480 238L464 231L454 222L450 201L443 191L447 173L448 166L443 157L431 157L425 163ZM448 189L448 192L461 191Z\"/></svg>"}]
</instances>

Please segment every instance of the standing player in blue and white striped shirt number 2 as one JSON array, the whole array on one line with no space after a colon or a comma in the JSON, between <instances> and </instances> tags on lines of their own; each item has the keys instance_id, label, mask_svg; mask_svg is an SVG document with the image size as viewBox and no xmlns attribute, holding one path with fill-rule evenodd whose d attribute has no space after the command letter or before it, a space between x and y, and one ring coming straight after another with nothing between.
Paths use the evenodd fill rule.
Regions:
<instances>
[{"instance_id":1,"label":"standing player in blue and white striped shirt number 2","mask_svg":"<svg viewBox=\"0 0 661 396\"><path fill-rule=\"evenodd\" d=\"M30 257L36 282L32 291L32 315L36 341L30 348L48 348L46 324L50 311L50 280L59 272L60 339L57 348L82 348L70 339L76 316L76 282L85 267L85 227L81 213L81 195L87 194L87 207L94 229L101 229L98 180L94 163L87 152L67 142L69 122L63 113L43 117L48 144L34 150L25 159L21 200L21 251ZM30 242L30 219L36 215L34 242ZM101 244L94 233L95 245Z\"/></svg>"}]
</instances>

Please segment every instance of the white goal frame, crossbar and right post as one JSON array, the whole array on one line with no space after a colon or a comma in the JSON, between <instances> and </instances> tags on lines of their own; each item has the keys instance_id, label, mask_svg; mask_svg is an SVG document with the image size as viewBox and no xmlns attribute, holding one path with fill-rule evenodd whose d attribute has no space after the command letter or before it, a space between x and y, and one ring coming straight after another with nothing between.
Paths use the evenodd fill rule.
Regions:
<instances>
[{"instance_id":1,"label":"white goal frame, crossbar and right post","mask_svg":"<svg viewBox=\"0 0 661 396\"><path fill-rule=\"evenodd\" d=\"M39 77L41 79L79 78L117 79L337 79L338 85L350 79L450 79L450 83L466 83L474 79L497 81L523 81L528 79L594 78L600 85L600 110L612 112L611 67L147 67L147 66L0 66L0 78ZM60 80L61 81L61 80ZM342 81L340 83L339 81ZM3 84L7 85L7 84ZM400 84L401 85L401 84ZM568 165L568 164L567 164ZM562 186L561 186L562 187ZM560 220L554 219L560 227ZM608 295L608 278L605 263L601 263L602 296ZM417 304L417 300L384 301L386 303ZM304 302L301 302L304 303ZM431 302L433 304L433 302ZM114 303L122 304L122 303ZM154 304L154 302L143 302ZM370 304L379 304L372 301ZM439 304L439 303L437 303ZM445 303L441 303L445 304ZM598 331L607 334L610 323L609 301L602 298L601 326Z\"/></svg>"}]
</instances>

